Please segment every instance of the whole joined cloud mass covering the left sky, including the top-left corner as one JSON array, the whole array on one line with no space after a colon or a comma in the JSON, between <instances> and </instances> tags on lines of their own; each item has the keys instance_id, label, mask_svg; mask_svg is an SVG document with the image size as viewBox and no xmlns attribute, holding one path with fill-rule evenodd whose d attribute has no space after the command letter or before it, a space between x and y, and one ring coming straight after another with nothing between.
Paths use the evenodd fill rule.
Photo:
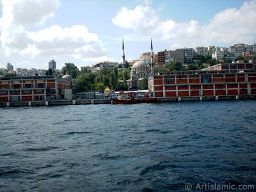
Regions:
<instances>
[{"instance_id":1,"label":"whole joined cloud mass covering the left sky, including the top-left corner","mask_svg":"<svg viewBox=\"0 0 256 192\"><path fill-rule=\"evenodd\" d=\"M97 34L90 33L86 26L43 28L45 20L53 17L60 6L59 0L2 0L1 3L0 40L6 57L108 59L108 50ZM29 30L38 26L43 29Z\"/></svg>"}]
</instances>

